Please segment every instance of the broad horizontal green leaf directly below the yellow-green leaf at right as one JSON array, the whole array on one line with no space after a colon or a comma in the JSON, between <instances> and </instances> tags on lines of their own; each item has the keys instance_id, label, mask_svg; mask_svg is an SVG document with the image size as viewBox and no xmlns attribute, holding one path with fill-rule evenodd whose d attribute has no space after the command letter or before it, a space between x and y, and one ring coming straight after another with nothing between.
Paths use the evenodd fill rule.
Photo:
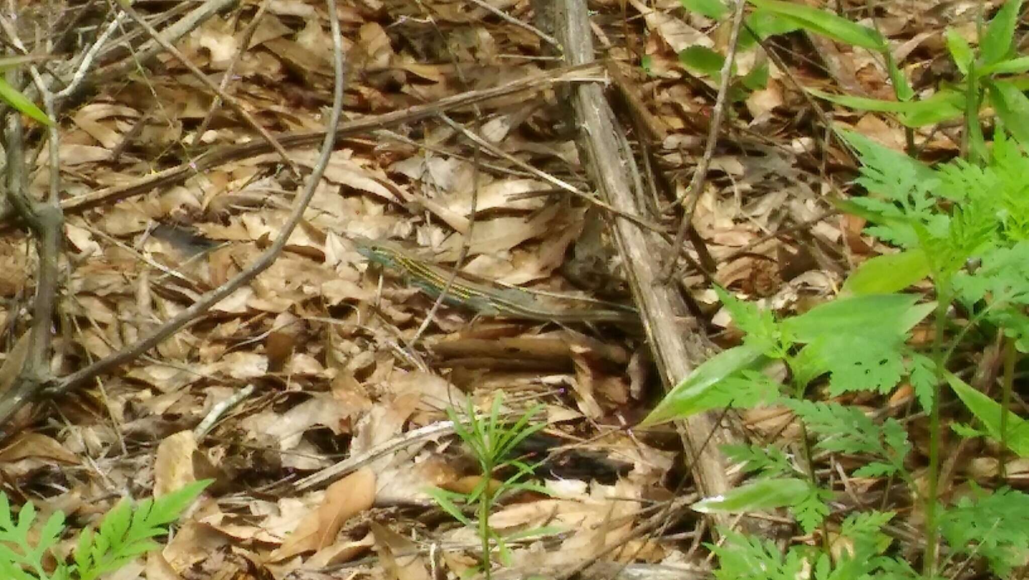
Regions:
<instances>
[{"instance_id":1,"label":"broad horizontal green leaf directly below the yellow-green leaf at right","mask_svg":"<svg viewBox=\"0 0 1029 580\"><path fill-rule=\"evenodd\" d=\"M894 334L909 330L909 311L919 297L883 294L837 298L799 316L786 318L782 329L797 342L814 342L826 336Z\"/></svg>"}]
</instances>

